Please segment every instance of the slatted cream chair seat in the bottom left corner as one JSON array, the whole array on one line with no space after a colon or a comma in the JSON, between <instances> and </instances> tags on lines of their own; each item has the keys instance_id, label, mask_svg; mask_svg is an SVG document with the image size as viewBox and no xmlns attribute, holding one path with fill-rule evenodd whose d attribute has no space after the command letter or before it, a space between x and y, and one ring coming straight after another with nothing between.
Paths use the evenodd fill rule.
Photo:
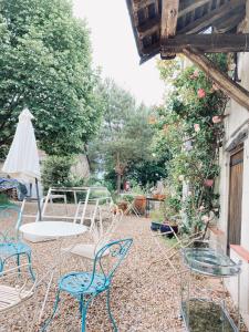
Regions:
<instances>
[{"instance_id":1,"label":"slatted cream chair seat in the bottom left corner","mask_svg":"<svg viewBox=\"0 0 249 332\"><path fill-rule=\"evenodd\" d=\"M23 300L29 299L33 293L30 291L0 284L0 312L18 305Z\"/></svg>"}]
</instances>

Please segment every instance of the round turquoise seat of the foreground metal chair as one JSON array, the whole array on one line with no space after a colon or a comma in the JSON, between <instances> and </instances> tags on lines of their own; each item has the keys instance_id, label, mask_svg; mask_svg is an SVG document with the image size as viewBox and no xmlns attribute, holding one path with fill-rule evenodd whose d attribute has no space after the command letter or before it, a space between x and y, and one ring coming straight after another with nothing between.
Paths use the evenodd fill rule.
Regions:
<instances>
[{"instance_id":1,"label":"round turquoise seat of the foreground metal chair","mask_svg":"<svg viewBox=\"0 0 249 332\"><path fill-rule=\"evenodd\" d=\"M59 287L73 295L100 293L110 287L110 281L104 274L95 273L93 281L92 277L92 272L72 272L59 280Z\"/></svg>"}]
</instances>

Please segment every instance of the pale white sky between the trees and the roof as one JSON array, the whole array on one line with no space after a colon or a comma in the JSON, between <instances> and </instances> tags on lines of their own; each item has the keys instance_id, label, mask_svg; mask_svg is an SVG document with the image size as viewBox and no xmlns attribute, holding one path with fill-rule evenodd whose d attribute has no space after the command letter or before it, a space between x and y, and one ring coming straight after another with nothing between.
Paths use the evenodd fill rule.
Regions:
<instances>
[{"instance_id":1,"label":"pale white sky between the trees and the roof","mask_svg":"<svg viewBox=\"0 0 249 332\"><path fill-rule=\"evenodd\" d=\"M125 0L74 0L74 14L86 19L91 30L94 66L128 90L138 103L162 103L164 83L155 59L139 65Z\"/></svg>"}]
</instances>

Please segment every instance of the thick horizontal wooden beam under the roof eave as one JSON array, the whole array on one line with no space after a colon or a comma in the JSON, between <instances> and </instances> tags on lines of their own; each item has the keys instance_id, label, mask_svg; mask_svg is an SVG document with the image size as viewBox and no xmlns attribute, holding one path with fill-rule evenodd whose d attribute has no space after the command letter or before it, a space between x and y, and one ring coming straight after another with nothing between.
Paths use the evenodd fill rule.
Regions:
<instances>
[{"instance_id":1,"label":"thick horizontal wooden beam under the roof eave","mask_svg":"<svg viewBox=\"0 0 249 332\"><path fill-rule=\"evenodd\" d=\"M160 45L162 55L195 48L204 53L249 52L249 33L178 34Z\"/></svg>"}]
</instances>

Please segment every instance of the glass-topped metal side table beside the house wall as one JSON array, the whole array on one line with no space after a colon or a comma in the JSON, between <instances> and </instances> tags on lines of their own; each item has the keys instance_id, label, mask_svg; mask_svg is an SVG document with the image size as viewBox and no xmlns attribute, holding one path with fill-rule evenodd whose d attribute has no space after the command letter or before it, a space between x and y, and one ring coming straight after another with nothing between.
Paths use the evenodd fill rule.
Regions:
<instances>
[{"instance_id":1,"label":"glass-topped metal side table beside the house wall","mask_svg":"<svg viewBox=\"0 0 249 332\"><path fill-rule=\"evenodd\" d=\"M189 271L188 278L186 273L181 276L180 284L181 317L186 329L191 332L238 332L239 323L238 326L235 324L226 308L224 279L237 276L239 288L241 263L236 263L221 251L207 247L206 242L204 245L205 247L203 248L185 248L181 250L184 262ZM220 278L222 284L221 299L214 301L210 295L205 298L199 295L199 293L195 291L195 282L191 282L191 280L196 278L194 274L201 274L207 278ZM187 278L187 280L183 280L183 278ZM206 282L203 280L201 288L205 289L205 287ZM208 290L208 292L210 290Z\"/></svg>"}]
</instances>

